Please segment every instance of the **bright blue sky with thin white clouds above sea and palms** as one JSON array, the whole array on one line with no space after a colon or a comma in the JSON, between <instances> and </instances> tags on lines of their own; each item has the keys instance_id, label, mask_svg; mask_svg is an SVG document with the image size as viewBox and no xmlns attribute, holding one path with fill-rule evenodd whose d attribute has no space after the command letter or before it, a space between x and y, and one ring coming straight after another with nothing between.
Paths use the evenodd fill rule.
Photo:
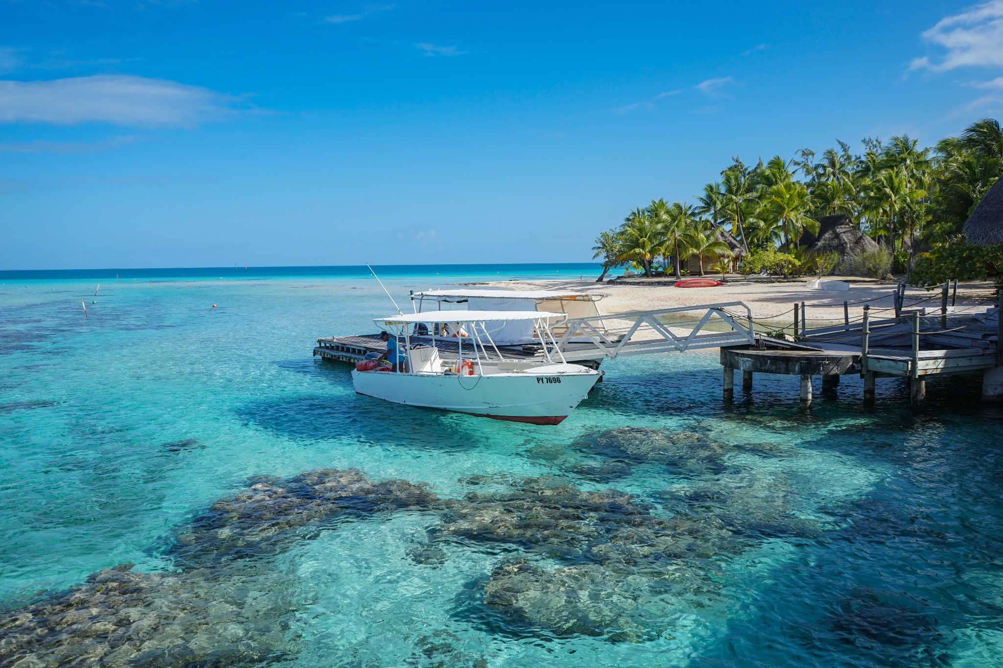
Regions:
<instances>
[{"instance_id":1,"label":"bright blue sky with thin white clouds above sea and palms","mask_svg":"<svg viewBox=\"0 0 1003 668\"><path fill-rule=\"evenodd\" d=\"M1003 106L1003 0L0 0L0 268L578 261Z\"/></svg>"}]
</instances>

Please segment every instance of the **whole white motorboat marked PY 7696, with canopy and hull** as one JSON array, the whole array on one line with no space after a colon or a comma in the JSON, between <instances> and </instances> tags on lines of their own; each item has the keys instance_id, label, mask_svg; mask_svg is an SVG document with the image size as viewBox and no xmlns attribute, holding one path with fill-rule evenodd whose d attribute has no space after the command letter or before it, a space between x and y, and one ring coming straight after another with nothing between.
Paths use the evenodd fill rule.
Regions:
<instances>
[{"instance_id":1,"label":"whole white motorboat marked PY 7696, with canopy and hull","mask_svg":"<svg viewBox=\"0 0 1003 668\"><path fill-rule=\"evenodd\" d=\"M360 371L366 365L359 363L352 372L355 392L407 406L557 425L601 377L600 372L568 364L558 350L551 323L567 317L567 313L535 310L443 310L376 318L376 324L395 338L404 363L396 371ZM498 352L490 325L516 321L532 326L535 339L543 344L542 360L507 361ZM430 332L432 345L412 347L412 331L421 331L423 338ZM435 337L443 335L459 348L449 366L443 365L434 345ZM493 356L488 356L487 347Z\"/></svg>"}]
</instances>

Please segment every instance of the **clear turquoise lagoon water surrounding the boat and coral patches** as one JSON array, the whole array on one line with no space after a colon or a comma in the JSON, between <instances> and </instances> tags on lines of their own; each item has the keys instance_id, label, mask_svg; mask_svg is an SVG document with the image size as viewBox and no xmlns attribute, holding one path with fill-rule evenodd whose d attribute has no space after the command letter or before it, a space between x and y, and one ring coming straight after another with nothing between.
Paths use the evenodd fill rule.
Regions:
<instances>
[{"instance_id":1,"label":"clear turquoise lagoon water surrounding the boat and coral patches","mask_svg":"<svg viewBox=\"0 0 1003 668\"><path fill-rule=\"evenodd\" d=\"M589 268L381 273L399 300L506 271ZM311 358L316 337L369 330L389 311L371 277L179 271L0 275L5 609L116 564L177 571L177 533L249 477L354 468L426 484L454 505L342 518L184 576L193 591L240 589L245 610L269 611L268 629L255 617L227 631L273 634L265 662L1003 665L1003 415L968 379L932 381L915 414L890 381L865 411L850 379L834 397L816 388L810 412L798 410L793 378L757 377L726 407L716 353L642 357L605 364L606 382L562 425L514 425L359 397L347 366ZM610 456L610 431L627 427L614 434L629 444L658 434L638 428L700 441L671 462ZM465 508L455 504L471 493L494 503L541 476L576 494L633 495L647 533L624 525L570 549L567 536L454 532ZM515 506L498 503L504 527ZM567 526L572 538L588 528ZM595 558L637 548L638 536L680 535L691 540L671 558ZM554 587L526 614L485 605L508 582L496 569L520 559ZM619 612L604 617L611 593ZM569 606L586 620L580 632L554 621Z\"/></svg>"}]
</instances>

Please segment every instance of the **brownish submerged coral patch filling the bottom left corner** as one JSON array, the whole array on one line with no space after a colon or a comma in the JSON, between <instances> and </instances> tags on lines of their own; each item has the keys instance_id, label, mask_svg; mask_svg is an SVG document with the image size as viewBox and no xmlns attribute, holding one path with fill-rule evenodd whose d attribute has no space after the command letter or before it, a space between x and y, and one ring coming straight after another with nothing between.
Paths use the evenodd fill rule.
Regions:
<instances>
[{"instance_id":1,"label":"brownish submerged coral patch filling the bottom left corner","mask_svg":"<svg viewBox=\"0 0 1003 668\"><path fill-rule=\"evenodd\" d=\"M284 657L291 607L262 576L98 571L0 615L0 666L237 666Z\"/></svg>"}]
</instances>

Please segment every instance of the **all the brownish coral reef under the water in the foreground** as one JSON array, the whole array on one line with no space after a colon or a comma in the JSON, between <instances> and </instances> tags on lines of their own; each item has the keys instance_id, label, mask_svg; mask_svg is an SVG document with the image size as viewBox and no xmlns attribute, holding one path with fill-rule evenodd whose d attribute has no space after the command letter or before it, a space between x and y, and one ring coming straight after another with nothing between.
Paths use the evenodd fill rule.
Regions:
<instances>
[{"instance_id":1,"label":"all the brownish coral reef under the water in the foreground","mask_svg":"<svg viewBox=\"0 0 1003 668\"><path fill-rule=\"evenodd\" d=\"M477 605L485 610L552 635L628 642L670 631L680 605L696 610L722 596L728 582L722 558L768 538L818 530L797 513L782 483L729 467L729 448L697 433L621 428L571 450L592 463L561 455L554 458L560 475L553 477L470 476L460 482L471 491L458 499L402 480L374 482L356 470L252 479L178 530L163 551L176 572L136 573L120 565L0 614L0 666L166 668L288 659L297 652L296 605L283 597L277 586L283 576L263 557L321 530L400 510L439 518L428 528L428 543L409 552L415 564L442 563L447 553L438 546L445 543L517 553L482 580ZM686 484L648 501L572 484L621 477L647 464L668 467ZM435 665L484 665L452 648L448 635L430 636L415 651L419 663L434 655Z\"/></svg>"}]
</instances>

